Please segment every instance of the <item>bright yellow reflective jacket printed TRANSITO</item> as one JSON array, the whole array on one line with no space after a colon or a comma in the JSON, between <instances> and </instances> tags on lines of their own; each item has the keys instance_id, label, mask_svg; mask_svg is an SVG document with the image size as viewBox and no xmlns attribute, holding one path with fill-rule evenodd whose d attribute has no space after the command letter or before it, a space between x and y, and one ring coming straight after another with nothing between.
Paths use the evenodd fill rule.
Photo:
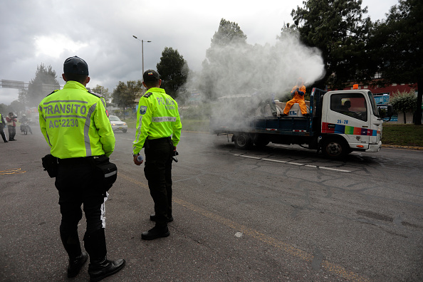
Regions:
<instances>
[{"instance_id":1,"label":"bright yellow reflective jacket printed TRANSITO","mask_svg":"<svg viewBox=\"0 0 423 282\"><path fill-rule=\"evenodd\" d=\"M38 106L40 128L51 155L60 159L110 156L115 135L100 95L88 93L84 85L68 81Z\"/></svg>"}]
</instances>

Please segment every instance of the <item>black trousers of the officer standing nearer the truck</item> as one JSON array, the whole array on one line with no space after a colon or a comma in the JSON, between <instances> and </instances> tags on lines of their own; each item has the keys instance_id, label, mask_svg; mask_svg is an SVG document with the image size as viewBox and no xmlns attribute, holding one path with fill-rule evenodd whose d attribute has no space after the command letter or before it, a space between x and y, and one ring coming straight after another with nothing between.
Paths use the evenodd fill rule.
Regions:
<instances>
[{"instance_id":1,"label":"black trousers of the officer standing nearer the truck","mask_svg":"<svg viewBox=\"0 0 423 282\"><path fill-rule=\"evenodd\" d=\"M167 225L172 216L172 155L170 137L147 140L144 174L155 202L156 224Z\"/></svg>"}]
</instances>

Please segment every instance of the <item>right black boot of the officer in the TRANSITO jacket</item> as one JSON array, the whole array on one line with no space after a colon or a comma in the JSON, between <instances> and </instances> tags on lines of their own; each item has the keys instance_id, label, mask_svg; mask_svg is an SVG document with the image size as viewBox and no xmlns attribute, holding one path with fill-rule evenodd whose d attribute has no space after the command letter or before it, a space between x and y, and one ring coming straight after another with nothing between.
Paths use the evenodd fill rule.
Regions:
<instances>
[{"instance_id":1,"label":"right black boot of the officer in the TRANSITO jacket","mask_svg":"<svg viewBox=\"0 0 423 282\"><path fill-rule=\"evenodd\" d=\"M84 236L85 250L90 254L90 265L88 274L90 281L100 281L110 275L117 273L125 266L124 259L109 261L106 254L104 229L98 229L91 234Z\"/></svg>"}]
</instances>

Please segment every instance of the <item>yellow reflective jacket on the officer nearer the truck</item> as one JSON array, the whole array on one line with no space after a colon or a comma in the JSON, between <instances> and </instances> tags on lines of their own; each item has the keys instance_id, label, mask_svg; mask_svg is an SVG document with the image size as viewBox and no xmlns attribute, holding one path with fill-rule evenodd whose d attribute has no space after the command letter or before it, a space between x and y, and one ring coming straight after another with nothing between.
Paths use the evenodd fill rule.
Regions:
<instances>
[{"instance_id":1,"label":"yellow reflective jacket on the officer nearer the truck","mask_svg":"<svg viewBox=\"0 0 423 282\"><path fill-rule=\"evenodd\" d=\"M177 146L182 130L177 102L164 89L150 88L138 103L136 129L134 155L140 152L147 137L152 140L172 135L173 145Z\"/></svg>"}]
</instances>

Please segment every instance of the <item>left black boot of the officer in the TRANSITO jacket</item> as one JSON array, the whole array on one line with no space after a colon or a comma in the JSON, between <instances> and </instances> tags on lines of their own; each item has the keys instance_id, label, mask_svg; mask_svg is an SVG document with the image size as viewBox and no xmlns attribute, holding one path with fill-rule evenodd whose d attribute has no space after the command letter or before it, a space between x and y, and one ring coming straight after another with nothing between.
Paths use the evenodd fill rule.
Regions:
<instances>
[{"instance_id":1,"label":"left black boot of the officer in the TRANSITO jacket","mask_svg":"<svg viewBox=\"0 0 423 282\"><path fill-rule=\"evenodd\" d=\"M78 275L88 259L88 254L80 249L78 231L71 234L61 231L61 240L69 256L68 277L72 278Z\"/></svg>"}]
</instances>

